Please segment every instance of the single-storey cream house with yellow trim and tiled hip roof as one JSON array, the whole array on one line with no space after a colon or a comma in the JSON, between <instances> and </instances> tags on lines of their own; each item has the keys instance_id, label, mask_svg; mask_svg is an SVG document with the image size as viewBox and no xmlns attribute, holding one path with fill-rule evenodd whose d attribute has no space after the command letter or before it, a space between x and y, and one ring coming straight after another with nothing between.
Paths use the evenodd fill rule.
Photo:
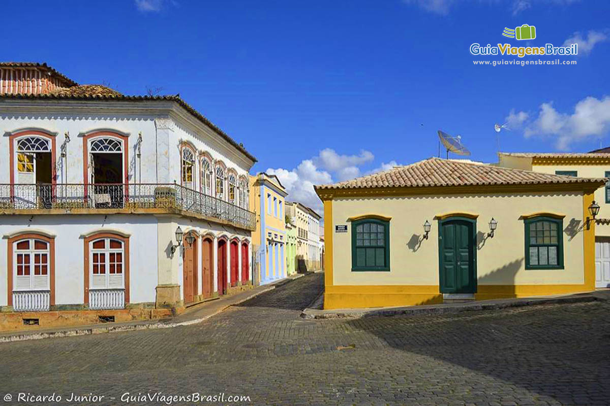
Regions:
<instances>
[{"instance_id":1,"label":"single-storey cream house with yellow trim and tiled hip roof","mask_svg":"<svg viewBox=\"0 0 610 406\"><path fill-rule=\"evenodd\" d=\"M317 186L325 309L593 290L603 184L430 158Z\"/></svg>"}]
</instances>

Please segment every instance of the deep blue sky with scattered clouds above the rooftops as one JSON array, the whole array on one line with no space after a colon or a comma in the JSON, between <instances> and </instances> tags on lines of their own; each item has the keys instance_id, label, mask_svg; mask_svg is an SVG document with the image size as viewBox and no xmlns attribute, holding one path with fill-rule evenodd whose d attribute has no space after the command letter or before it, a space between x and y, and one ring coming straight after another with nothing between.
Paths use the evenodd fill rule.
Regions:
<instances>
[{"instance_id":1,"label":"deep blue sky with scattered clouds above the rooftops","mask_svg":"<svg viewBox=\"0 0 610 406\"><path fill-rule=\"evenodd\" d=\"M124 94L179 93L319 208L312 183L437 154L472 159L610 144L610 2L594 0L5 2L3 60L46 61ZM43 18L28 27L27 18ZM502 37L536 26L537 38ZM475 66L472 43L580 44L571 66ZM7 44L10 43L10 46ZM551 60L554 57L541 57ZM511 115L512 112L512 115Z\"/></svg>"}]
</instances>

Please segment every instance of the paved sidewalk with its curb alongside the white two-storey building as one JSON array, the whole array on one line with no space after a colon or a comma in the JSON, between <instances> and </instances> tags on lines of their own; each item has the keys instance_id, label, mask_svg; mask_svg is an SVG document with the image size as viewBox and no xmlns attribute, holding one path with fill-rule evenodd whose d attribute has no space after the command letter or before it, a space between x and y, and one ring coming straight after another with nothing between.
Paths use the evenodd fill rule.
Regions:
<instances>
[{"instance_id":1,"label":"paved sidewalk with its curb alongside the white two-storey building","mask_svg":"<svg viewBox=\"0 0 610 406\"><path fill-rule=\"evenodd\" d=\"M290 275L287 278L270 284L257 286L250 290L237 293L231 296L221 296L204 303L188 307L184 313L159 320L138 320L125 321L121 323L88 324L85 326L56 327L53 329L40 329L30 331L9 331L0 333L0 343L9 341L39 340L51 337L74 337L76 335L101 334L107 332L134 331L145 329L166 329L170 327L188 326L189 324L200 323L207 318L223 312L228 307L243 303L246 300L268 292L276 287L282 286L295 279L301 278L304 274Z\"/></svg>"}]
</instances>

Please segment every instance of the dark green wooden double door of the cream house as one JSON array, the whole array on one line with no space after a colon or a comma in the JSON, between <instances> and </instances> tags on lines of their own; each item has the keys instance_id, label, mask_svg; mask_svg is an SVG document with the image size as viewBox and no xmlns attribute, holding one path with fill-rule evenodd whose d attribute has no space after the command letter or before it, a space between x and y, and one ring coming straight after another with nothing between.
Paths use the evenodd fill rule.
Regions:
<instances>
[{"instance_id":1,"label":"dark green wooden double door of the cream house","mask_svg":"<svg viewBox=\"0 0 610 406\"><path fill-rule=\"evenodd\" d=\"M475 222L448 219L440 223L441 293L475 293Z\"/></svg>"}]
</instances>

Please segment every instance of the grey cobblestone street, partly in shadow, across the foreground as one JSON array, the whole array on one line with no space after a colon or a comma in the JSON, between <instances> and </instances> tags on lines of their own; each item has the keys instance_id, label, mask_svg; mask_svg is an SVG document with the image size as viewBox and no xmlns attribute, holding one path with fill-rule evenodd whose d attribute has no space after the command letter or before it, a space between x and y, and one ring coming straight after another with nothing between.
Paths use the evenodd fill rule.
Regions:
<instances>
[{"instance_id":1,"label":"grey cobblestone street, partly in shadow, across the foreground","mask_svg":"<svg viewBox=\"0 0 610 406\"><path fill-rule=\"evenodd\" d=\"M94 393L106 396L101 404L124 404L123 393L162 391L247 395L270 405L610 403L608 302L301 319L322 286L322 274L307 275L192 326L2 344L0 396Z\"/></svg>"}]
</instances>

